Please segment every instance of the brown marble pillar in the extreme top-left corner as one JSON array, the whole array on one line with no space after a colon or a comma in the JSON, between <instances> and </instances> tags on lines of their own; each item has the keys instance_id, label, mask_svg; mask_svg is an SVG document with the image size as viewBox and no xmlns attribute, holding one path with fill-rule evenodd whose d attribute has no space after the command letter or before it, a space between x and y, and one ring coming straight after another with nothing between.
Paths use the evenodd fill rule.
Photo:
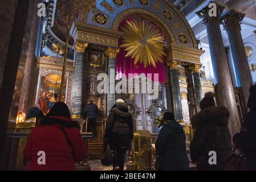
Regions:
<instances>
[{"instance_id":1,"label":"brown marble pillar in the extreme top-left corner","mask_svg":"<svg viewBox=\"0 0 256 182\"><path fill-rule=\"evenodd\" d=\"M1 1L0 11L0 88L2 85L3 71L13 28L14 15L18 0Z\"/></svg>"}]
</instances>

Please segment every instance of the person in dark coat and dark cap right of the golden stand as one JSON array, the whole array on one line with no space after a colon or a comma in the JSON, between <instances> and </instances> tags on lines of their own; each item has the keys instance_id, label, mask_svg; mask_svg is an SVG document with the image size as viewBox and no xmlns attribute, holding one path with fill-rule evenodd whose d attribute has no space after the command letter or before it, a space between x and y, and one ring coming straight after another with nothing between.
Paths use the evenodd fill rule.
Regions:
<instances>
[{"instance_id":1,"label":"person in dark coat and dark cap right of the golden stand","mask_svg":"<svg viewBox=\"0 0 256 182\"><path fill-rule=\"evenodd\" d=\"M186 153L186 136L182 126L170 112L164 113L164 126L156 140L156 154L162 157L160 171L184 171L189 169Z\"/></svg>"}]
</instances>

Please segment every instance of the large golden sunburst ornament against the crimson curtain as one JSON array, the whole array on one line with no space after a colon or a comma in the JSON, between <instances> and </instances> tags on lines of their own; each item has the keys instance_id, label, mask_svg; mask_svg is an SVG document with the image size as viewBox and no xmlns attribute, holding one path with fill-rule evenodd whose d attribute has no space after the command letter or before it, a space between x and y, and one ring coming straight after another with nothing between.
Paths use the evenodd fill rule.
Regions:
<instances>
[{"instance_id":1,"label":"large golden sunburst ornament against the crimson curtain","mask_svg":"<svg viewBox=\"0 0 256 182\"><path fill-rule=\"evenodd\" d=\"M134 20L127 21L127 26L123 27L123 44L127 54L131 56L134 64L141 63L145 68L152 65L156 68L156 63L162 63L162 56L165 56L163 37L150 23Z\"/></svg>"}]
</instances>

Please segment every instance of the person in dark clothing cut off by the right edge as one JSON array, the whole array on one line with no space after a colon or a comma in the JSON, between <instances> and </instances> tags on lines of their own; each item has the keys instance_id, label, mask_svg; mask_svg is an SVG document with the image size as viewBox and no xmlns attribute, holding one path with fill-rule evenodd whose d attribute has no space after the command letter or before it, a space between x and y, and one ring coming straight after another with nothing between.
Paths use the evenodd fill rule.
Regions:
<instances>
[{"instance_id":1,"label":"person in dark clothing cut off by the right edge","mask_svg":"<svg viewBox=\"0 0 256 182\"><path fill-rule=\"evenodd\" d=\"M247 106L250 112L244 117L238 146L245 153L247 168L256 171L256 85L250 88Z\"/></svg>"}]
</instances>

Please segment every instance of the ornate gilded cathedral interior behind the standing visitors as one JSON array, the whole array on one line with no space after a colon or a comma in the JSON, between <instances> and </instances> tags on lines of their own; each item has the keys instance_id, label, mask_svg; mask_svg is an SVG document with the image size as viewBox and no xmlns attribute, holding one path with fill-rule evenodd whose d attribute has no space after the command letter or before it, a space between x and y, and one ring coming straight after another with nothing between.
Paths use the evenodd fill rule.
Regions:
<instances>
[{"instance_id":1,"label":"ornate gilded cathedral interior behind the standing visitors","mask_svg":"<svg viewBox=\"0 0 256 182\"><path fill-rule=\"evenodd\" d=\"M100 158L118 99L128 105L135 131L127 170L152 169L157 121L165 111L184 128L189 154L190 119L207 92L229 109L231 136L238 133L256 84L256 9L253 0L213 2L1 1L0 169L23 169L22 151L37 125L26 114L36 104L43 114L56 101L67 104L89 152L88 161L77 164L81 170L109 169ZM101 85L101 75L110 81ZM152 92L143 92L143 85ZM95 138L83 117L89 101L99 108Z\"/></svg>"}]
</instances>

